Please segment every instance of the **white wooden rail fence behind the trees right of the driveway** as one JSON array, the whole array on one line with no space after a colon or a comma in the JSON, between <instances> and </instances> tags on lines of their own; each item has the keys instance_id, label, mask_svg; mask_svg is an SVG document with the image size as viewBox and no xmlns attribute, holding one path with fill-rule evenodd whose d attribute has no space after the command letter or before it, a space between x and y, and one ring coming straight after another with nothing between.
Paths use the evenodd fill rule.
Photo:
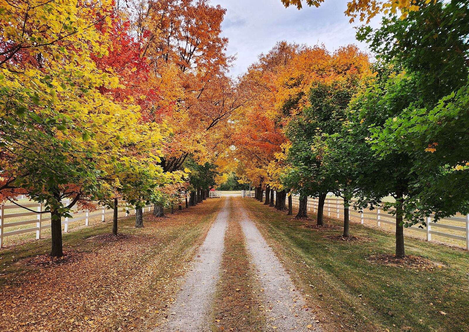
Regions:
<instances>
[{"instance_id":1,"label":"white wooden rail fence behind the trees right of the driveway","mask_svg":"<svg viewBox=\"0 0 469 332\"><path fill-rule=\"evenodd\" d=\"M248 192L249 193L249 192ZM265 193L264 193L265 196ZM243 197L254 197L249 196L249 194L246 194ZM275 193L274 193L275 197ZM292 204L293 206L298 206L300 204L299 202L300 196L292 195ZM356 200L352 200L350 203L355 203ZM311 198L308 197L308 211L313 211L316 213L318 211L318 203L319 200L318 198ZM340 219L341 216L344 215L344 200L342 198L326 198L324 202L324 214L327 213L327 216L329 217L334 217L337 219ZM395 211L395 209L389 209L388 211ZM380 204L379 206L375 207L375 210L363 210L363 211L356 211L353 209L353 207L348 208L348 213L350 217L355 217L360 219L361 223L364 223L364 220L368 221L374 221L376 222L376 225L379 227L381 226L381 223L385 224L390 224L390 225L396 225L396 217L386 213L386 211L383 211L383 204ZM460 240L460 241L465 241L466 242L466 249L469 250L469 214L466 216L460 215L460 216L452 216L452 217L447 217L440 219L438 222L433 222L431 221L432 218L434 218L434 215L431 215L430 217L427 217L426 224L427 226L424 228L420 228L418 226L410 226L406 227L408 229L415 230L417 232L422 232L426 234L427 241L431 241L431 235L439 235L443 236L446 238L451 238L454 240ZM446 223L445 223L446 222ZM450 222L452 225L449 225L448 222ZM465 233L465 235L459 235L459 234L450 234L450 233L445 233L442 230L437 231L435 229L450 229L453 231L458 231Z\"/></svg>"}]
</instances>

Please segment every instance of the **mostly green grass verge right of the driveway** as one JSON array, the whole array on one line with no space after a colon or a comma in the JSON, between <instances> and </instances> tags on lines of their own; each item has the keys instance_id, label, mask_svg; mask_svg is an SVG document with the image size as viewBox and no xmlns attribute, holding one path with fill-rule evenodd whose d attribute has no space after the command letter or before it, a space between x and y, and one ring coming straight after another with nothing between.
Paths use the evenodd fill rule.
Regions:
<instances>
[{"instance_id":1,"label":"mostly green grass verge right of the driveway","mask_svg":"<svg viewBox=\"0 0 469 332\"><path fill-rule=\"evenodd\" d=\"M390 234L351 224L364 241L342 233L340 220L295 220L254 199L243 200L269 244L303 288L325 331L469 331L469 253L406 237L406 254L434 264L373 263L394 252ZM280 258L279 257L279 258ZM438 267L441 266L441 267Z\"/></svg>"}]
</instances>

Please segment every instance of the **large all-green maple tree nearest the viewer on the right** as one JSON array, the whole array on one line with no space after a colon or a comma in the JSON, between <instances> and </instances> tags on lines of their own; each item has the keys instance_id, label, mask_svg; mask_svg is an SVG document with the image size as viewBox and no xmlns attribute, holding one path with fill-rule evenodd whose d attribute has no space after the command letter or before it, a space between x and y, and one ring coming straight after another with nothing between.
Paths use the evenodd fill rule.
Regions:
<instances>
[{"instance_id":1,"label":"large all-green maple tree nearest the viewer on the right","mask_svg":"<svg viewBox=\"0 0 469 332\"><path fill-rule=\"evenodd\" d=\"M407 171L402 170L405 196L388 204L396 208L401 226L425 225L431 214L438 221L468 211L463 185L467 156L459 143L467 134L463 123L469 74L468 43L462 37L467 33L468 8L462 3L432 2L404 19L390 17L379 29L362 31L362 38L393 66L388 84L394 87L377 89L379 103L389 109L396 99L408 101L377 121L369 135L377 158L408 160ZM398 43L391 45L389 38ZM403 256L403 243L400 246L398 254Z\"/></svg>"}]
</instances>

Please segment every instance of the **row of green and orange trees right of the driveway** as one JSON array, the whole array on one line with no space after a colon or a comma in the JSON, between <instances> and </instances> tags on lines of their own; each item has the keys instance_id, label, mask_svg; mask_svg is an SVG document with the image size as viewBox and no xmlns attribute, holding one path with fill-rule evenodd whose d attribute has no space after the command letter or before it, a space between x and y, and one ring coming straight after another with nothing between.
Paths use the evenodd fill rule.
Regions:
<instances>
[{"instance_id":1,"label":"row of green and orange trees right of the driveway","mask_svg":"<svg viewBox=\"0 0 469 332\"><path fill-rule=\"evenodd\" d=\"M372 2L351 2L348 14L368 20L371 7L356 6ZM393 196L385 209L396 216L396 256L404 257L404 226L469 212L469 6L381 5L381 26L357 33L376 54L372 63L353 45L329 53L282 42L259 57L243 79L264 91L263 104L244 108L234 154L238 173L258 188L299 194L298 217L307 197L318 197L318 225L329 192L346 208L356 197L357 210Z\"/></svg>"}]
</instances>

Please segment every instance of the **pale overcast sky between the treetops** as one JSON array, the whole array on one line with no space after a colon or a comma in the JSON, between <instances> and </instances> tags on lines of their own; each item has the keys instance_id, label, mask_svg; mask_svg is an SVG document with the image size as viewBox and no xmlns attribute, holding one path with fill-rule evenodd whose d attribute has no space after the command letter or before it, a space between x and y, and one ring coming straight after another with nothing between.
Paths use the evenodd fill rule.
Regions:
<instances>
[{"instance_id":1,"label":"pale overcast sky between the treetops","mask_svg":"<svg viewBox=\"0 0 469 332\"><path fill-rule=\"evenodd\" d=\"M231 74L240 75L268 52L277 41L297 44L323 43L333 51L342 45L355 44L367 51L365 44L355 38L354 26L345 16L347 0L326 0L319 8L285 8L280 0L211 0L212 5L227 9L223 21L223 36L229 38L229 55L236 61Z\"/></svg>"}]
</instances>

